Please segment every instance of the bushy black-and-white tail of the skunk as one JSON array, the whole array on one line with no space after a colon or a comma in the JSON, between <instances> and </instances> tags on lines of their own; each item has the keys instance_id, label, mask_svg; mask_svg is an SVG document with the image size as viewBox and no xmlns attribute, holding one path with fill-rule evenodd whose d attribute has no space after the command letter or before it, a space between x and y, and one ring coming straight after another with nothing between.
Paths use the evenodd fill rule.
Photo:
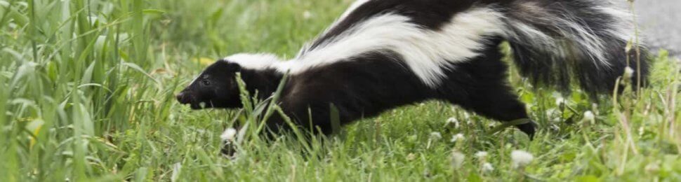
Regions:
<instances>
[{"instance_id":1,"label":"bushy black-and-white tail of the skunk","mask_svg":"<svg viewBox=\"0 0 681 182\"><path fill-rule=\"evenodd\" d=\"M506 12L515 63L535 84L568 91L576 78L595 97L611 93L627 66L637 71L633 83L647 78L644 48L626 50L635 38L632 16L607 0L517 0Z\"/></svg>"}]
</instances>

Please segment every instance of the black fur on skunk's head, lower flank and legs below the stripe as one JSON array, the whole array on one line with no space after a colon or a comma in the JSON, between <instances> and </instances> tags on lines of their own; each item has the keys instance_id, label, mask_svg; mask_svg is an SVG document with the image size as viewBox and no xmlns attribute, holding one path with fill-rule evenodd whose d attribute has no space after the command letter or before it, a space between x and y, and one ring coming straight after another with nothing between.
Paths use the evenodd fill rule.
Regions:
<instances>
[{"instance_id":1,"label":"black fur on skunk's head, lower flank and legs below the stripe","mask_svg":"<svg viewBox=\"0 0 681 182\"><path fill-rule=\"evenodd\" d=\"M482 116L501 121L527 118L524 105L506 83L507 66L501 62L502 55L498 50L501 38L489 39L489 46L482 50L483 56L470 62L452 64L452 69L447 71L447 80L437 89L426 86L407 69L398 54L381 51L352 58L358 60L321 66L291 76L284 87L279 106L298 125L324 134L332 132L330 104L337 107L342 125L376 116L397 106L430 99L458 104ZM216 67L222 69L213 69ZM260 99L270 97L283 76L276 71L241 69L236 64L219 61L201 73L194 84L180 92L178 100L183 104L192 104L194 109L201 109L194 107L199 105L196 102L201 99L187 102L180 97L211 90L225 93L229 97L203 100L207 103L206 108L239 107L239 104L233 104L240 102L237 95L239 90L233 81L236 71L242 73L244 82L249 85L249 92L257 90L260 93ZM229 79L230 85L227 87L230 89L220 90L197 85L204 75L209 75L209 78L213 75L227 75L224 78ZM308 118L312 118L312 121ZM312 123L313 128L308 123ZM287 126L280 116L270 118L267 125L274 132ZM528 123L518 127L533 136L533 125L534 123Z\"/></svg>"}]
</instances>

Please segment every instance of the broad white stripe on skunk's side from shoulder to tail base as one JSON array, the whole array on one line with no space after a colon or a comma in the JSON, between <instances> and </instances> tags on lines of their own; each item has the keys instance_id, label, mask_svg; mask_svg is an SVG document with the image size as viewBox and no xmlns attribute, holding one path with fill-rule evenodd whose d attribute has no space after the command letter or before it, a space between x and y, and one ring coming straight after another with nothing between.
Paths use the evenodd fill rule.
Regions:
<instances>
[{"instance_id":1,"label":"broad white stripe on skunk's side from shoulder to tail base","mask_svg":"<svg viewBox=\"0 0 681 182\"><path fill-rule=\"evenodd\" d=\"M345 61L364 53L390 50L430 87L444 77L444 66L480 55L484 36L503 33L501 13L491 8L472 8L458 13L439 31L423 29L402 15L380 15L355 25L318 48L289 62L279 71L301 73L310 68Z\"/></svg>"}]
</instances>

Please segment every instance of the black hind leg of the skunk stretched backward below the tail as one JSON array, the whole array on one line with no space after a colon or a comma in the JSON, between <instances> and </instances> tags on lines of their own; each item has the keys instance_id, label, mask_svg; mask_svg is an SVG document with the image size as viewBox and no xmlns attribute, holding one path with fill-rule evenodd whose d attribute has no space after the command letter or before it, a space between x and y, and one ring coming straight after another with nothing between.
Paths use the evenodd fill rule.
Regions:
<instances>
[{"instance_id":1,"label":"black hind leg of the skunk stretched backward below the tail","mask_svg":"<svg viewBox=\"0 0 681 182\"><path fill-rule=\"evenodd\" d=\"M437 90L440 99L502 123L529 120L525 105L508 84L508 66L501 61L502 57L498 47L491 45L483 50L482 56L453 64ZM536 123L516 127L534 138Z\"/></svg>"}]
</instances>

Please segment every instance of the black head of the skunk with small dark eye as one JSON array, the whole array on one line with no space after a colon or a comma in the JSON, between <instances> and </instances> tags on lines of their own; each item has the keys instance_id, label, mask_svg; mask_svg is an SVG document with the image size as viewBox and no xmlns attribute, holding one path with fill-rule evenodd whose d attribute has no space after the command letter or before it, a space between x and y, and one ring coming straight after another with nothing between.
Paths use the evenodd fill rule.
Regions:
<instances>
[{"instance_id":1,"label":"black head of the skunk with small dark eye","mask_svg":"<svg viewBox=\"0 0 681 182\"><path fill-rule=\"evenodd\" d=\"M201 72L176 98L180 104L189 104L192 109L241 107L236 80L240 70L239 64L218 61Z\"/></svg>"}]
</instances>

